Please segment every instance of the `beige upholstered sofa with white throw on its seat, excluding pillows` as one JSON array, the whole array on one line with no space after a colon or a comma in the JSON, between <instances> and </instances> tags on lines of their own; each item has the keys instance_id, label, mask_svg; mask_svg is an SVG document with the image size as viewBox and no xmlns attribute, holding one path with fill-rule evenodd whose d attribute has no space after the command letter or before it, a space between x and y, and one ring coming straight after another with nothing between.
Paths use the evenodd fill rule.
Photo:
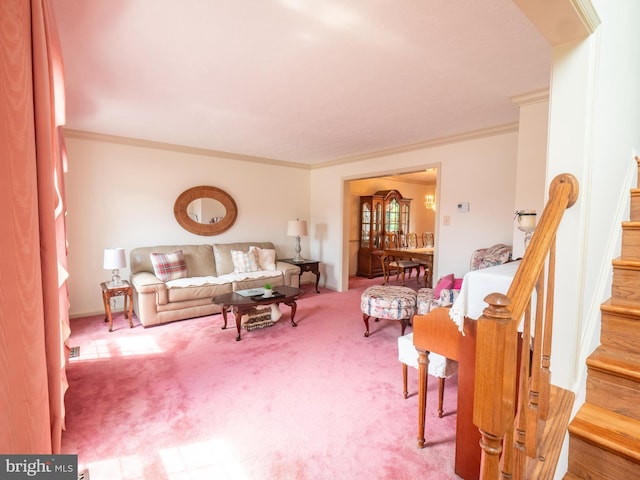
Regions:
<instances>
[{"instance_id":1,"label":"beige upholstered sofa with white throw on its seat, excluding pillows","mask_svg":"<svg viewBox=\"0 0 640 480\"><path fill-rule=\"evenodd\" d=\"M300 268L275 262L275 270L235 273L232 250L248 252L250 246L275 250L271 242L209 245L163 245L134 248L130 253L133 309L143 326L211 315L220 312L213 297L270 283L299 287ZM154 274L151 253L182 250L187 277L162 281Z\"/></svg>"}]
</instances>

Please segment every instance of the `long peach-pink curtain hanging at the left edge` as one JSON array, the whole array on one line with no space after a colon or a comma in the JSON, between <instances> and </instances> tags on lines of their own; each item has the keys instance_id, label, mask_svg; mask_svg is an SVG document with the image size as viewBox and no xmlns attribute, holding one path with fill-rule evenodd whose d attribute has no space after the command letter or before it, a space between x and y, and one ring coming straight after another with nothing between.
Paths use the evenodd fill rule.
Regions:
<instances>
[{"instance_id":1,"label":"long peach-pink curtain hanging at the left edge","mask_svg":"<svg viewBox=\"0 0 640 480\"><path fill-rule=\"evenodd\" d=\"M0 452L59 453L69 337L62 57L47 0L2 0L0 19Z\"/></svg>"}]
</instances>

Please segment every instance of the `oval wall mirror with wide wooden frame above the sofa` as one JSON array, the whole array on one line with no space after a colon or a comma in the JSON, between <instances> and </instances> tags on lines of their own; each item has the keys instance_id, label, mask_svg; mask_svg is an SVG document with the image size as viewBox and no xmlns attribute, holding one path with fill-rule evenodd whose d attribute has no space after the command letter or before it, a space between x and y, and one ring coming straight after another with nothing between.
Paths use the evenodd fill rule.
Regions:
<instances>
[{"instance_id":1,"label":"oval wall mirror with wide wooden frame above the sofa","mask_svg":"<svg viewBox=\"0 0 640 480\"><path fill-rule=\"evenodd\" d=\"M218 235L235 223L238 207L233 198L216 187L200 186L185 190L173 205L178 223L196 235Z\"/></svg>"}]
</instances>

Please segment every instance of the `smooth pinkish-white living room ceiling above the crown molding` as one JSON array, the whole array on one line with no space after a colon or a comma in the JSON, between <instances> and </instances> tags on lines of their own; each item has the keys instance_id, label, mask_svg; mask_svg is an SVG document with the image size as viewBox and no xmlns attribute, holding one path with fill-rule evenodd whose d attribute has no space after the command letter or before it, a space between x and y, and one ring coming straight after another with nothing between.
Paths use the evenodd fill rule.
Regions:
<instances>
[{"instance_id":1,"label":"smooth pinkish-white living room ceiling above the crown molding","mask_svg":"<svg viewBox=\"0 0 640 480\"><path fill-rule=\"evenodd\" d=\"M69 130L305 166L518 121L551 46L512 0L51 0Z\"/></svg>"}]
</instances>

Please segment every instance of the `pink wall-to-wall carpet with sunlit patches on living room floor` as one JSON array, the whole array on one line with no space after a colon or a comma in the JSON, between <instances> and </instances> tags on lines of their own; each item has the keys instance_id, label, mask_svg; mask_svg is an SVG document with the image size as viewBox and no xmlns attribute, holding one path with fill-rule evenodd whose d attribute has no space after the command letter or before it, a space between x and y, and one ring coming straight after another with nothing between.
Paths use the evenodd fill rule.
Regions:
<instances>
[{"instance_id":1,"label":"pink wall-to-wall carpet with sunlit patches on living room floor","mask_svg":"<svg viewBox=\"0 0 640 480\"><path fill-rule=\"evenodd\" d=\"M360 294L305 285L297 328L221 330L220 315L144 329L122 314L72 320L63 453L92 480L456 479L456 379L437 417L429 377L427 447L417 435L417 370L402 397L400 324L371 322ZM410 286L414 286L412 279ZM408 329L407 332L410 330Z\"/></svg>"}]
</instances>

